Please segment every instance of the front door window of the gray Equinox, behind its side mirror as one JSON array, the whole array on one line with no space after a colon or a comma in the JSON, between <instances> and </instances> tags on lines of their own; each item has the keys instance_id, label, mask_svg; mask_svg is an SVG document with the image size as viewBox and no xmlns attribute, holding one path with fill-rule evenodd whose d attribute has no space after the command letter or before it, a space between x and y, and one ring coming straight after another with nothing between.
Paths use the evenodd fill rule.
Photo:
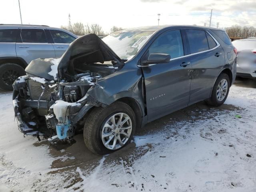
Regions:
<instances>
[{"instance_id":1,"label":"front door window of the gray Equinox, behind its side mirror","mask_svg":"<svg viewBox=\"0 0 256 192\"><path fill-rule=\"evenodd\" d=\"M158 36L149 48L149 54L151 53L165 53L171 58L184 56L180 30L168 31Z\"/></svg>"}]
</instances>

